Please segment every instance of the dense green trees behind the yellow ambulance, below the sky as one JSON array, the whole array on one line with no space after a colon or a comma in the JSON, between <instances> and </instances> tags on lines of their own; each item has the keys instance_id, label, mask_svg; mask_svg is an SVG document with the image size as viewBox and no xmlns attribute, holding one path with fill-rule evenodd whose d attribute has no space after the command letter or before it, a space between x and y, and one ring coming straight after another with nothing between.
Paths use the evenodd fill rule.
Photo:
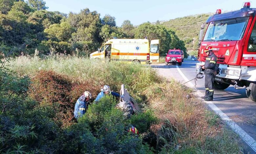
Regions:
<instances>
[{"instance_id":1,"label":"dense green trees behind the yellow ambulance, below the sky","mask_svg":"<svg viewBox=\"0 0 256 154\"><path fill-rule=\"evenodd\" d=\"M117 27L114 16L100 18L88 8L69 14L46 9L42 0L0 0L0 41L16 47L19 54L33 54L35 49L39 54L88 54L113 37L160 39L163 55L170 48L186 50L173 30L159 24L135 27L125 20Z\"/></svg>"}]
</instances>

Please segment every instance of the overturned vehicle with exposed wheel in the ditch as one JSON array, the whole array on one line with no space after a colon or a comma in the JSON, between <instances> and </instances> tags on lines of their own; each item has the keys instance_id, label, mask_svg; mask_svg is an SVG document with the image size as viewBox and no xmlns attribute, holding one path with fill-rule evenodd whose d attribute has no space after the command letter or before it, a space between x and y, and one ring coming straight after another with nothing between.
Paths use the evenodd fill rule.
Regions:
<instances>
[{"instance_id":1,"label":"overturned vehicle with exposed wheel in the ditch","mask_svg":"<svg viewBox=\"0 0 256 154\"><path fill-rule=\"evenodd\" d=\"M120 108L124 112L126 118L130 118L133 113L141 111L138 103L136 103L135 99L124 88L124 84L121 86L120 95L123 97L120 97L117 108Z\"/></svg>"}]
</instances>

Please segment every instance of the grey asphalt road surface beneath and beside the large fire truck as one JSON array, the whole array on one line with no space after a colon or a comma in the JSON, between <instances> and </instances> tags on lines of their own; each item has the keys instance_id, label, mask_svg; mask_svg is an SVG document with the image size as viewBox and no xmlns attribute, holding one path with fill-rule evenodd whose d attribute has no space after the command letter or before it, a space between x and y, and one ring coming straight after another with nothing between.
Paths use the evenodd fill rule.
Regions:
<instances>
[{"instance_id":1,"label":"grey asphalt road surface beneath and beside the large fire truck","mask_svg":"<svg viewBox=\"0 0 256 154\"><path fill-rule=\"evenodd\" d=\"M188 80L195 78L197 61L184 61L179 69ZM167 80L174 78L181 83L186 82L175 65L157 64L151 65L159 70L159 74L166 77ZM191 81L194 85L194 81ZM188 85L189 86L189 85ZM191 87L191 84L190 84ZM197 89L204 94L204 78L198 79ZM245 89L235 89L233 86L225 90L214 90L214 100L212 102L230 119L233 119L249 136L256 140L256 121L251 121L256 115L256 102L247 98ZM249 119L249 120L248 120ZM256 153L248 147L249 153Z\"/></svg>"}]
</instances>

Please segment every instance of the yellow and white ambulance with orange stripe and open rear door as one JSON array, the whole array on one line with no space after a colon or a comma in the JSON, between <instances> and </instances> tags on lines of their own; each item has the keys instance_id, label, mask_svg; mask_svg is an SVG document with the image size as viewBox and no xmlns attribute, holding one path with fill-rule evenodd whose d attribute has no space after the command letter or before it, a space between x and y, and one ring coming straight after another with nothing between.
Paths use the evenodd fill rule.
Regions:
<instances>
[{"instance_id":1,"label":"yellow and white ambulance with orange stripe and open rear door","mask_svg":"<svg viewBox=\"0 0 256 154\"><path fill-rule=\"evenodd\" d=\"M159 62L159 40L111 39L103 43L91 59L110 59L123 62L151 64Z\"/></svg>"}]
</instances>

